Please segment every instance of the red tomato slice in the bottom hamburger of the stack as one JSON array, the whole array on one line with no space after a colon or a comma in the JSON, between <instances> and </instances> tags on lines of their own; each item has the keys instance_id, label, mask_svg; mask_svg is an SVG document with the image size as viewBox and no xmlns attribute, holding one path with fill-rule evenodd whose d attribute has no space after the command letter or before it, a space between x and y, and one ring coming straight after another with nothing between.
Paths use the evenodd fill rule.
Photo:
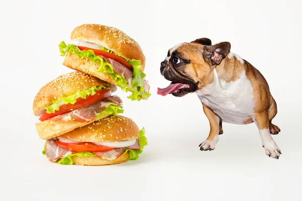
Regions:
<instances>
[{"instance_id":1,"label":"red tomato slice in the bottom hamburger of the stack","mask_svg":"<svg viewBox=\"0 0 302 201\"><path fill-rule=\"evenodd\" d=\"M90 142L85 142L85 143L63 143L60 142L59 140L55 141L58 146L68 149L70 151L74 152L105 152L105 151L111 151L115 148L112 147L103 147L100 145L96 145Z\"/></svg>"}]
</instances>

